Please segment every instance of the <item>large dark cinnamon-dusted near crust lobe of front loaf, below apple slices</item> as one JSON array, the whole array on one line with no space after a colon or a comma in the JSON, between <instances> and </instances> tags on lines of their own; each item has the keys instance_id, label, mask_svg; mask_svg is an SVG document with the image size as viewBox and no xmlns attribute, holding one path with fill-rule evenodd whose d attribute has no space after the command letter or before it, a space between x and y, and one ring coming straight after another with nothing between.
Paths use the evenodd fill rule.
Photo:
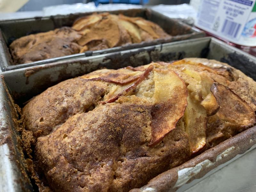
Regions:
<instances>
[{"instance_id":1,"label":"large dark cinnamon-dusted near crust lobe of front loaf, below apple slices","mask_svg":"<svg viewBox=\"0 0 256 192\"><path fill-rule=\"evenodd\" d=\"M50 186L59 185L56 191L127 191L184 162L189 151L182 126L161 145L147 146L149 108L130 102L106 104L38 138L37 165Z\"/></svg>"}]
</instances>

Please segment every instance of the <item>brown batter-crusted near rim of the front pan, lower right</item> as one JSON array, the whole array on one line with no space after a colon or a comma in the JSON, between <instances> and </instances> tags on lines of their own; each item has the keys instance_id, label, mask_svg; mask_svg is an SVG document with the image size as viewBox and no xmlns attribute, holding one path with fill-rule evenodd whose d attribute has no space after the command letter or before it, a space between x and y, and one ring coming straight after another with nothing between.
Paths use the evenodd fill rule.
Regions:
<instances>
[{"instance_id":1,"label":"brown batter-crusted near rim of the front pan, lower right","mask_svg":"<svg viewBox=\"0 0 256 192\"><path fill-rule=\"evenodd\" d=\"M204 153L178 167L161 173L150 180L147 185L141 188L132 189L130 192L176 191L182 184L203 177L213 168L226 163L238 154L243 154L255 144L256 126L223 141L221 144L206 150ZM188 170L191 170L191 174L187 175L187 178L182 178L179 172Z\"/></svg>"}]
</instances>

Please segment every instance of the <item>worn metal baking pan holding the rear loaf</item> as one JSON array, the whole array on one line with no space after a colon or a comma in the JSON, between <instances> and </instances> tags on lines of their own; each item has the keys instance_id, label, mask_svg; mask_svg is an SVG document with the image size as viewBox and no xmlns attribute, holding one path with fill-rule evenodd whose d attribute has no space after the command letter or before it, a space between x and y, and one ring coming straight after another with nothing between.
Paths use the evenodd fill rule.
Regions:
<instances>
[{"instance_id":1,"label":"worn metal baking pan holding the rear loaf","mask_svg":"<svg viewBox=\"0 0 256 192\"><path fill-rule=\"evenodd\" d=\"M47 60L41 60L30 63L30 66L50 63L60 60L68 60L70 58L81 58L85 56L98 55L108 52L115 52L121 50L127 50L132 48L139 48L143 46L167 43L173 41L179 41L184 39L196 38L205 36L204 32L199 29L190 27L181 21L170 19L158 12L152 11L150 9L129 9L129 10L118 10L118 11L109 11L113 14L122 13L130 17L142 17L147 20L151 20L161 26L164 31L172 35L170 38L166 39L157 39L148 42L141 42L138 44L129 44L119 47L114 47L110 49L100 50L100 51L87 51L84 53L78 53L73 55L68 55L64 57L52 58ZM9 52L9 45L13 40L26 36L28 34L45 32L52 30L54 28L60 28L62 26L71 26L77 18L85 15L90 15L93 12L87 13L76 13L69 15L56 15L50 17L36 17L29 19L16 19L16 20L4 20L0 21L0 67L2 71L8 69L15 69L15 66L12 66L12 57ZM21 64L21 63L20 63ZM12 66L8 69L6 67Z\"/></svg>"}]
</instances>

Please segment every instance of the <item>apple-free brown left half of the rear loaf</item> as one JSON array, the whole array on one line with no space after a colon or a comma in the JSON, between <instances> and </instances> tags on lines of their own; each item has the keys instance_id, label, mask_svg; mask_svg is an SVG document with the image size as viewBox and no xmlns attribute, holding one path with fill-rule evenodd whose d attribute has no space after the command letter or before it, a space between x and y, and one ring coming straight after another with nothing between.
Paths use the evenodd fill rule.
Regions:
<instances>
[{"instance_id":1,"label":"apple-free brown left half of the rear loaf","mask_svg":"<svg viewBox=\"0 0 256 192\"><path fill-rule=\"evenodd\" d=\"M79 53L76 41L81 35L72 28L63 27L45 33L20 37L10 44L14 64L62 57Z\"/></svg>"}]
</instances>

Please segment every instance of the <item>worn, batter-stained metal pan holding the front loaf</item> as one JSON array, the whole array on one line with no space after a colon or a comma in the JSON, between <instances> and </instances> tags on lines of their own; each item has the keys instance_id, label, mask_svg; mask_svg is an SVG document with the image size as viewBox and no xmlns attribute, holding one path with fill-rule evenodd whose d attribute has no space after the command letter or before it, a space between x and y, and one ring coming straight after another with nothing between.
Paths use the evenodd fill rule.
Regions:
<instances>
[{"instance_id":1,"label":"worn, batter-stained metal pan holding the front loaf","mask_svg":"<svg viewBox=\"0 0 256 192\"><path fill-rule=\"evenodd\" d=\"M255 57L210 37L2 72L0 74L2 75L0 78L0 188L15 192L33 190L33 180L30 182L26 174L24 155L20 149L17 132L19 116L14 103L22 107L22 103L47 87L102 67L139 66L150 61L169 61L184 57L204 57L225 61L256 80ZM187 182L201 178L211 170L211 172L216 171L221 167L219 165L229 163L238 154L244 154L250 148L256 148L256 126L158 175L146 186L133 191L174 191L180 187L179 190L185 190L189 187Z\"/></svg>"}]
</instances>

